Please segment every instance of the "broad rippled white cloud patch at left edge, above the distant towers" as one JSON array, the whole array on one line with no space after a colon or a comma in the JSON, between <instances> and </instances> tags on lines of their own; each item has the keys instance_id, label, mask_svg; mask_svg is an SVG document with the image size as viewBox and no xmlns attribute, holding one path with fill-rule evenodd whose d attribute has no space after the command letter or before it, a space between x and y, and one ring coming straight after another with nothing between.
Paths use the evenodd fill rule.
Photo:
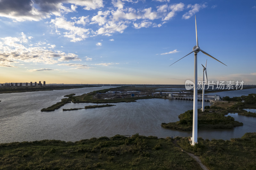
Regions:
<instances>
[{"instance_id":1,"label":"broad rippled white cloud patch at left edge, above the distant towers","mask_svg":"<svg viewBox=\"0 0 256 170\"><path fill-rule=\"evenodd\" d=\"M77 55L62 51L51 51L45 47L46 42L27 44L24 33L20 37L0 38L0 66L16 67L21 62L54 64L61 61L81 60ZM51 45L51 48L55 45Z\"/></svg>"}]
</instances>

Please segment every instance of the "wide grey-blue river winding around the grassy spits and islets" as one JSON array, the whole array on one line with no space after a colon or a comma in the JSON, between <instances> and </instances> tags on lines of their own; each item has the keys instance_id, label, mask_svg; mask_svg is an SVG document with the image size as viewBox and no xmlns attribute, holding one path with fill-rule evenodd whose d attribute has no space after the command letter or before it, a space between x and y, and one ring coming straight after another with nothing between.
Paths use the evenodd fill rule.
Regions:
<instances>
[{"instance_id":1,"label":"wide grey-blue river winding around the grassy spits and islets","mask_svg":"<svg viewBox=\"0 0 256 170\"><path fill-rule=\"evenodd\" d=\"M71 93L81 95L106 88L110 87L0 94L0 100L2 100L0 102L0 143L43 139L78 141L92 137L136 133L157 137L192 135L192 131L177 131L161 127L162 122L176 122L179 120L178 115L193 109L193 101L188 100L146 99L131 103L114 103L116 106L112 107L62 111L62 108L95 105L68 103L53 112L40 111L59 102L64 95ZM250 93L256 93L256 89L250 90ZM210 103L205 102L205 105ZM201 106L202 102L198 101L198 108ZM235 116L235 120L240 120L244 126L228 130L198 130L198 137L225 140L242 137L246 132L256 132L256 127L253 126L256 118L245 116L242 118L243 121L240 120L240 115Z\"/></svg>"}]
</instances>

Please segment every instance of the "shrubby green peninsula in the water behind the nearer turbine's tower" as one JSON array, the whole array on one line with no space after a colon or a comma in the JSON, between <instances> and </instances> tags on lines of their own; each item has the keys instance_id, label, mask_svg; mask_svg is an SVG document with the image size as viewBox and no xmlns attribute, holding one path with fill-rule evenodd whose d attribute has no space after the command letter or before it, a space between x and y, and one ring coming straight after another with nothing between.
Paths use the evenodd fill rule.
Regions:
<instances>
[{"instance_id":1,"label":"shrubby green peninsula in the water behind the nearer turbine's tower","mask_svg":"<svg viewBox=\"0 0 256 170\"><path fill-rule=\"evenodd\" d=\"M238 115L256 117L255 113L247 112L244 108L256 108L256 95L249 94L241 97L223 97L228 101L217 101L213 106L205 106L205 111L198 109L198 129L232 129L235 126L242 126L243 123L235 121L228 113L238 113ZM244 100L244 102L241 102ZM192 130L193 110L189 110L179 115L180 121L162 123L164 128L175 130Z\"/></svg>"}]
</instances>

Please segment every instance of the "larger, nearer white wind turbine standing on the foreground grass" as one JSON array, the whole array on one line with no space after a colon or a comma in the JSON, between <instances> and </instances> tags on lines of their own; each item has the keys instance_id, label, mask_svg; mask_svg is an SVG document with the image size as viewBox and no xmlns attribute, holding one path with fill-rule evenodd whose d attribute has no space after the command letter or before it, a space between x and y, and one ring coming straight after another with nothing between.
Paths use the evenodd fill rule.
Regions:
<instances>
[{"instance_id":1,"label":"larger, nearer white wind turbine standing on the foreground grass","mask_svg":"<svg viewBox=\"0 0 256 170\"><path fill-rule=\"evenodd\" d=\"M196 16L195 16L195 21L196 21ZM193 47L193 51L191 51L190 53L187 54L187 55L189 55L189 54L191 54L193 52L195 54L195 64L194 64L194 66L195 66L195 70L194 70L194 75L195 75L194 76L194 99L193 99L193 130L192 130L192 145L193 146L197 143L197 53L199 53L200 51L202 53L204 53L205 55L208 55L209 57L212 57L214 60L217 60L212 55L206 53L205 51L203 51L198 46L197 28L196 28L196 46ZM185 55L184 57L186 57L187 55ZM182 57L182 58L184 58L184 57ZM180 61L180 60L178 60L178 61ZM178 62L178 61L176 61L176 62ZM220 62L219 60L217 60L217 61ZM174 62L174 63L176 63L176 62ZM172 63L172 64L174 64L174 63ZM220 62L220 63L222 63L222 62ZM224 63L222 63L222 64L224 64ZM226 64L224 64L224 65L226 65Z\"/></svg>"}]
</instances>

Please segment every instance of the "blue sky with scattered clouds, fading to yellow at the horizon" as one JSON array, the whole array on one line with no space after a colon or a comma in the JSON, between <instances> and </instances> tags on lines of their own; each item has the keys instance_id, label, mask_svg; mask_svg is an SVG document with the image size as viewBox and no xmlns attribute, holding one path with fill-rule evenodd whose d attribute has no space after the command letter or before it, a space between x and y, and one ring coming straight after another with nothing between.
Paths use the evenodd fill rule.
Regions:
<instances>
[{"instance_id":1,"label":"blue sky with scattered clouds, fading to yellow at the horizon","mask_svg":"<svg viewBox=\"0 0 256 170\"><path fill-rule=\"evenodd\" d=\"M2 0L0 82L256 84L256 1Z\"/></svg>"}]
</instances>

